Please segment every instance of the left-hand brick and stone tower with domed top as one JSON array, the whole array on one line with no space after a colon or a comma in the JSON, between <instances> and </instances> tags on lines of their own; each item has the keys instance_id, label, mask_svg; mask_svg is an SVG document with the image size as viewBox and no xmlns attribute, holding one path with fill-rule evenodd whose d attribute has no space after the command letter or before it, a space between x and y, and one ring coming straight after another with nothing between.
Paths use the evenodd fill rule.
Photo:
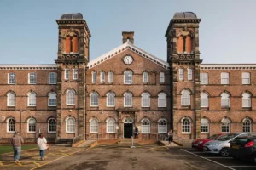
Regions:
<instances>
[{"instance_id":1,"label":"left-hand brick and stone tower with domed top","mask_svg":"<svg viewBox=\"0 0 256 170\"><path fill-rule=\"evenodd\" d=\"M59 26L58 59L55 60L58 65L58 141L85 133L85 68L89 62L90 31L80 13L62 14L56 22ZM67 122L76 127L67 127Z\"/></svg>"}]
</instances>

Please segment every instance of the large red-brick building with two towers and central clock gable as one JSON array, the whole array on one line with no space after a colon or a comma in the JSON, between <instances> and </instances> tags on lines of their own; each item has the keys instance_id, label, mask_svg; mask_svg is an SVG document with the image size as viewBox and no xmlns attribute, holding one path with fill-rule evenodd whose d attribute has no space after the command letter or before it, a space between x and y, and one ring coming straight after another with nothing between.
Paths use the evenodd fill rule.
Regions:
<instances>
[{"instance_id":1,"label":"large red-brick building with two towers and central clock gable","mask_svg":"<svg viewBox=\"0 0 256 170\"><path fill-rule=\"evenodd\" d=\"M0 65L1 142L20 131L48 139L156 138L172 128L183 139L255 131L256 65L202 64L194 13L176 13L163 61L123 44L90 61L82 14L63 14L55 65Z\"/></svg>"}]
</instances>

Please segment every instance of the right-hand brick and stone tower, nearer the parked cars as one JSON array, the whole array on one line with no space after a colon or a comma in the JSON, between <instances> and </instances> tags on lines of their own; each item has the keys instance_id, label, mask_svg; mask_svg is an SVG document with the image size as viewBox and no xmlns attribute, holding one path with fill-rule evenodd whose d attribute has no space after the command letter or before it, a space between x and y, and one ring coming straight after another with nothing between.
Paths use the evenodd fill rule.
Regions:
<instances>
[{"instance_id":1,"label":"right-hand brick and stone tower, nearer the parked cars","mask_svg":"<svg viewBox=\"0 0 256 170\"><path fill-rule=\"evenodd\" d=\"M183 139L196 139L200 134L200 21L192 12L176 13L166 31L172 79L172 128ZM183 132L184 120L190 123L190 132Z\"/></svg>"}]
</instances>

